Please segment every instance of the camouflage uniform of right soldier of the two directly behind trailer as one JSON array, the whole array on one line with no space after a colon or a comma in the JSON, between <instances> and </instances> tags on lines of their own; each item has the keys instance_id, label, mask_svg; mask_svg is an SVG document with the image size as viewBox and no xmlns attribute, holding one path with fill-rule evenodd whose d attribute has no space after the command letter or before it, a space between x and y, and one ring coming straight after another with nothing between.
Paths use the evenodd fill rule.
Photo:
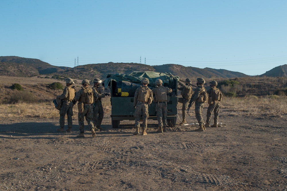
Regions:
<instances>
[{"instance_id":1,"label":"camouflage uniform of right soldier of the two directly behind trailer","mask_svg":"<svg viewBox=\"0 0 287 191\"><path fill-rule=\"evenodd\" d=\"M166 99L161 98L161 100L157 100L157 92L159 91L159 88L163 88ZM154 89L152 89L153 94L155 95L155 102L156 102L156 117L158 119L158 127L167 126L167 94L172 92L172 89L168 87L164 87L162 85L155 86Z\"/></svg>"}]
</instances>

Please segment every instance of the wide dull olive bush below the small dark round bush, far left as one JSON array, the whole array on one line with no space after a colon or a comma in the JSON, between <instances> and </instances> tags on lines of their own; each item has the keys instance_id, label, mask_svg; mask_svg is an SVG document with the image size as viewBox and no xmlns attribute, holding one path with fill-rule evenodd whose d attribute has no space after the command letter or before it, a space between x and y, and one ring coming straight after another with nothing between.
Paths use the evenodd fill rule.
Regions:
<instances>
[{"instance_id":1,"label":"wide dull olive bush below the small dark round bush, far left","mask_svg":"<svg viewBox=\"0 0 287 191\"><path fill-rule=\"evenodd\" d=\"M32 93L28 91L14 91L10 96L7 98L7 102L9 104L15 103L35 103L38 101L38 98L35 97Z\"/></svg>"}]
</instances>

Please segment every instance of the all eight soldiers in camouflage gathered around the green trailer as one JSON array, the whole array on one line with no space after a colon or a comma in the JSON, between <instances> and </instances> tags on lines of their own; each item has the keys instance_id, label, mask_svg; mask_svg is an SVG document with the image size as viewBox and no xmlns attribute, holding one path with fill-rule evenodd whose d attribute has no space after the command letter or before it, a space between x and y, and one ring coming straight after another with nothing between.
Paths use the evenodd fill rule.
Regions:
<instances>
[{"instance_id":1,"label":"all eight soldiers in camouflage gathered around the green trailer","mask_svg":"<svg viewBox=\"0 0 287 191\"><path fill-rule=\"evenodd\" d=\"M57 96L57 99L61 100L62 106L60 109L60 128L59 132L71 132L72 129L72 116L73 105L78 101L77 107L78 122L79 122L79 135L77 137L85 137L84 135L84 119L88 123L89 129L92 133L92 137L96 137L95 131L103 130L101 123L104 117L103 107L101 99L106 95L100 90L100 83L102 80L99 78L94 79L94 86L90 88L89 80L82 81L82 87L79 91L75 90L73 86L74 81L71 78L65 79L66 86L63 94ZM183 81L184 82L184 81ZM220 101L222 99L221 91L216 88L217 82L210 82L210 89L207 91L203 85L205 80L203 78L197 78L197 88L193 91L191 87L191 80L188 78L185 80L185 84L179 81L178 90L181 90L182 98L179 98L179 103L182 103L182 121L179 125L186 123L186 111L195 103L195 117L199 123L199 128L195 131L205 131L206 127L217 127L218 113L220 108ZM147 122L148 122L148 106L154 101L156 103L156 116L158 120L158 133L166 131L167 124L167 103L169 101L168 94L172 92L172 89L162 85L162 80L157 79L155 81L156 86L151 90L148 87L148 78L141 80L142 86L137 88L134 95L134 117L135 117L135 132L134 135L139 135L140 120L142 116L141 135L147 135ZM203 122L202 111L204 103L208 101L209 107L207 110L206 123ZM214 113L214 124L210 126L210 121ZM68 129L64 130L65 115L67 114ZM142 114L142 115L141 115Z\"/></svg>"}]
</instances>

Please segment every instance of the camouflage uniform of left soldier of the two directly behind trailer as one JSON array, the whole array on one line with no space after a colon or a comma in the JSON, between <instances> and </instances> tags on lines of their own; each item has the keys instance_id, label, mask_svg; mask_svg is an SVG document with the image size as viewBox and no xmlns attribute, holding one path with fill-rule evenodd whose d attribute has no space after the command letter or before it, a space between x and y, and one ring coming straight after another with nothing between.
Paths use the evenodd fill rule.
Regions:
<instances>
[{"instance_id":1,"label":"camouflage uniform of left soldier of the two directly behind trailer","mask_svg":"<svg viewBox=\"0 0 287 191\"><path fill-rule=\"evenodd\" d=\"M145 94L141 96L147 97L146 101L138 100L141 97L139 96L139 93L142 93L141 90L145 92ZM143 131L148 128L148 117L149 117L148 98L151 100L153 99L152 90L148 88L148 86L139 87L137 88L137 90L135 90L135 96L133 99L133 106L135 107L135 113L133 114L133 116L135 117L135 127L140 127L140 119L141 119L141 112L142 112L143 123L142 123L141 129Z\"/></svg>"}]
</instances>

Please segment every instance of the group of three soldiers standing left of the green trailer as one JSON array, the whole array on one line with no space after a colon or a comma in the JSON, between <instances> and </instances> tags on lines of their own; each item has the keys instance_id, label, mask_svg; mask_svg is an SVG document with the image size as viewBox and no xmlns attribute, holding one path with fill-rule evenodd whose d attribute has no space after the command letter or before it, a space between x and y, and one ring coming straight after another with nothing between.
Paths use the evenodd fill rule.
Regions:
<instances>
[{"instance_id":1,"label":"group of three soldiers standing left of the green trailer","mask_svg":"<svg viewBox=\"0 0 287 191\"><path fill-rule=\"evenodd\" d=\"M75 84L73 79L67 78L65 79L65 81L66 86L64 88L63 94L57 96L57 99L60 99L62 104L60 109L60 128L57 129L57 131L72 131L73 105L75 105L78 101L77 107L79 110L79 135L77 135L77 137L85 137L85 118L92 133L92 137L96 137L95 131L103 130L101 128L101 123L104 118L104 111L101 99L108 95L100 91L100 83L102 82L102 80L100 80L99 78L95 78L94 86L93 88L90 88L89 80L85 79L82 81L82 87L79 91L75 90L75 86L73 86L73 84ZM68 121L68 129L64 130L66 114Z\"/></svg>"}]
</instances>

